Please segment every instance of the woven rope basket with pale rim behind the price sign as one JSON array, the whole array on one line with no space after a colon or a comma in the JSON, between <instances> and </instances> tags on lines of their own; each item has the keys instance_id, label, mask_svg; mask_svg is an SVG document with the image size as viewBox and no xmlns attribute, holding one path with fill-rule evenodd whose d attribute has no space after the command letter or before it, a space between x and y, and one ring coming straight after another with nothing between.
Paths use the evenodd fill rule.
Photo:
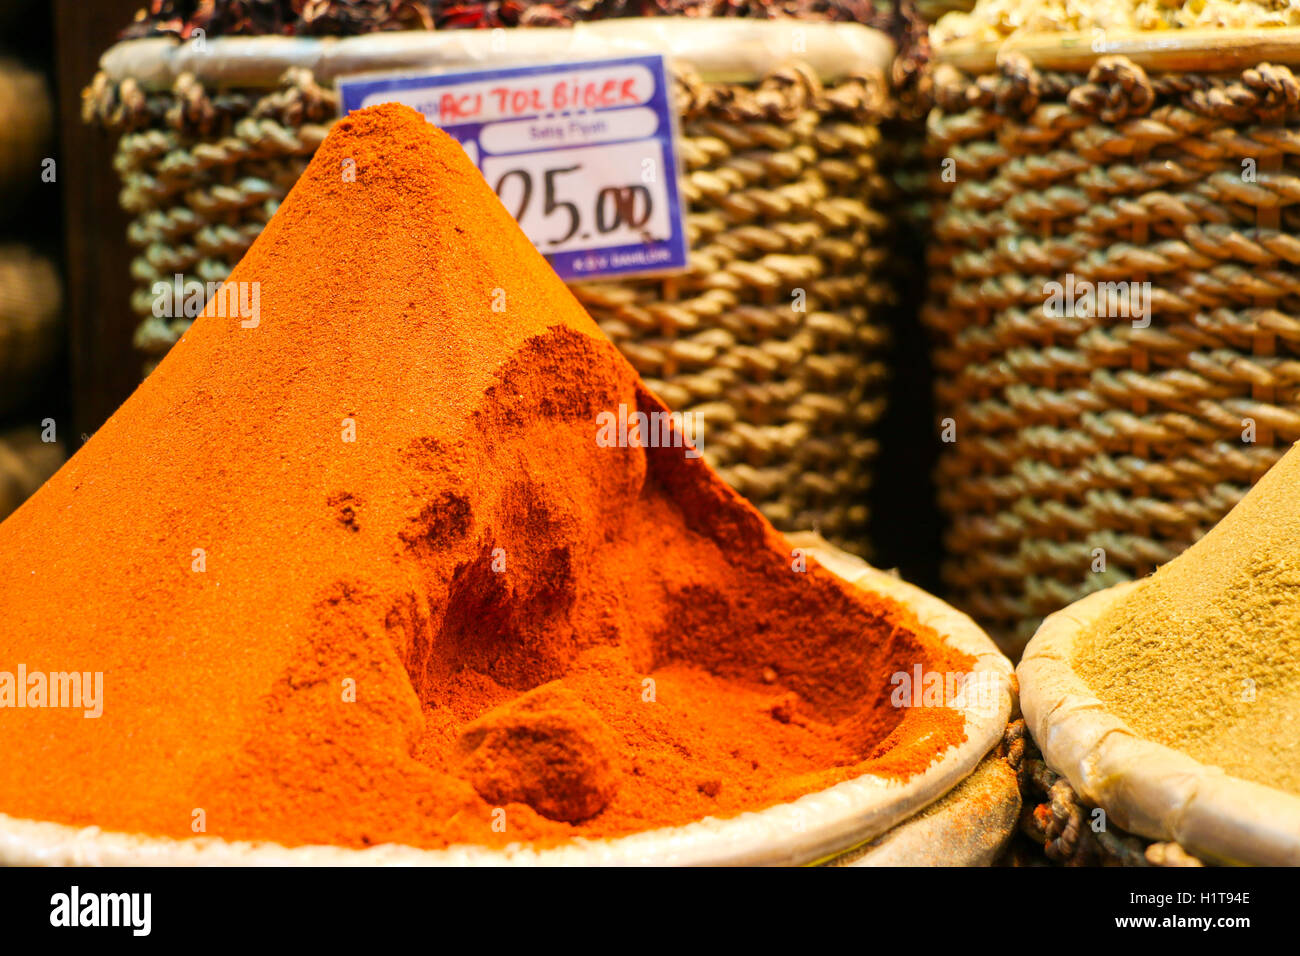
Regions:
<instances>
[{"instance_id":1,"label":"woven rope basket with pale rim behind the price sign","mask_svg":"<svg viewBox=\"0 0 1300 956\"><path fill-rule=\"evenodd\" d=\"M333 122L334 75L473 62L485 33L218 39L188 59L168 40L110 49L84 113L124 133L135 341L150 364L187 325L152 316L153 282L225 278ZM885 372L875 310L892 294L876 155L888 40L859 25L757 21L504 34L493 62L547 46L542 59L647 43L673 55L690 271L573 291L651 389L705 416L706 457L777 527L863 551ZM796 289L806 311L792 308Z\"/></svg>"}]
</instances>

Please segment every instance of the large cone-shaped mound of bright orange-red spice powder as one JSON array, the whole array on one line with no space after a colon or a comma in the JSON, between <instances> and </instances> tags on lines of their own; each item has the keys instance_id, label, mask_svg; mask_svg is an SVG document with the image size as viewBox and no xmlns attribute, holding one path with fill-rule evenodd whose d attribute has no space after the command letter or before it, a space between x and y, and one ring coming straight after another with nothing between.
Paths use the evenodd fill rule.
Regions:
<instances>
[{"instance_id":1,"label":"large cone-shaped mound of bright orange-red spice powder","mask_svg":"<svg viewBox=\"0 0 1300 956\"><path fill-rule=\"evenodd\" d=\"M200 317L0 525L0 670L104 675L98 719L0 709L0 812L551 845L963 739L889 695L968 658L682 447L597 442L663 406L417 113L339 122L230 281L256 326Z\"/></svg>"}]
</instances>

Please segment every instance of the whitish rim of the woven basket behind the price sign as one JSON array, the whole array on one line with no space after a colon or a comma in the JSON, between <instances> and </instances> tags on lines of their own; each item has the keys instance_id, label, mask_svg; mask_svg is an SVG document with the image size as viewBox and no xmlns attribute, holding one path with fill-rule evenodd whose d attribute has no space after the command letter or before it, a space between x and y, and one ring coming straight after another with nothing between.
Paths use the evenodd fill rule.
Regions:
<instances>
[{"instance_id":1,"label":"whitish rim of the woven basket behind the price sign","mask_svg":"<svg viewBox=\"0 0 1300 956\"><path fill-rule=\"evenodd\" d=\"M170 36L124 40L99 68L110 81L170 90L182 74L205 85L274 88L285 70L317 82L344 74L512 66L663 52L689 62L706 82L757 82L792 61L823 81L883 73L894 56L884 33L862 23L650 17L572 27L407 30L360 36L218 36L202 47Z\"/></svg>"}]
</instances>

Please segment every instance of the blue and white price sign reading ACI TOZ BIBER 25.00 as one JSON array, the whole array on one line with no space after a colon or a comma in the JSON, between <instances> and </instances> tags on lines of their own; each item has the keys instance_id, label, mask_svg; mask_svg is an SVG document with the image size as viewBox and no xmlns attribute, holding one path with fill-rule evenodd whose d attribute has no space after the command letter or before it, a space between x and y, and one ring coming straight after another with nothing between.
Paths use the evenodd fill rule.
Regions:
<instances>
[{"instance_id":1,"label":"blue and white price sign reading ACI TOZ BIBER 25.00","mask_svg":"<svg viewBox=\"0 0 1300 956\"><path fill-rule=\"evenodd\" d=\"M566 280L682 271L664 59L339 79L342 111L404 103L455 137Z\"/></svg>"}]
</instances>

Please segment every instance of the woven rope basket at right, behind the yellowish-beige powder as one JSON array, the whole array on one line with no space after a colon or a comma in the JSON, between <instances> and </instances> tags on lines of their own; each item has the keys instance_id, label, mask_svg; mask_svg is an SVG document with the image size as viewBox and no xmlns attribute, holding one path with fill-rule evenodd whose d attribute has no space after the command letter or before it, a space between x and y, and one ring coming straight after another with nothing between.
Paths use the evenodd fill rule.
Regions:
<instances>
[{"instance_id":1,"label":"woven rope basket at right, behind the yellowish-beige powder","mask_svg":"<svg viewBox=\"0 0 1300 956\"><path fill-rule=\"evenodd\" d=\"M940 52L923 317L956 429L944 575L1013 657L1043 615L1176 555L1300 438L1300 79L1280 59L1300 62L1300 30ZM1067 273L1149 282L1149 325L1049 312Z\"/></svg>"}]
</instances>

